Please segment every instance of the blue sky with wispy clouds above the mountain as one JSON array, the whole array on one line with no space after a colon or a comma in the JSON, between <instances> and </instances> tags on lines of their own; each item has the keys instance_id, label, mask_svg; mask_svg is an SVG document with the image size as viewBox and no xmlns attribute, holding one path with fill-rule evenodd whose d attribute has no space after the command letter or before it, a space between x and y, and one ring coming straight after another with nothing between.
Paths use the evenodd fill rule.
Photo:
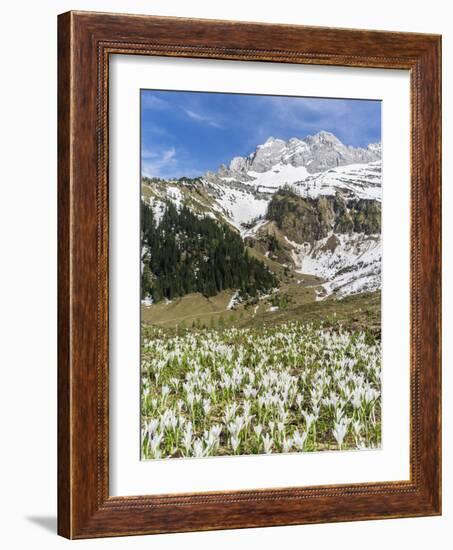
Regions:
<instances>
[{"instance_id":1,"label":"blue sky with wispy clouds above the mountain","mask_svg":"<svg viewBox=\"0 0 453 550\"><path fill-rule=\"evenodd\" d=\"M381 102L141 90L142 174L195 177L247 156L270 136L320 130L346 145L381 139Z\"/></svg>"}]
</instances>

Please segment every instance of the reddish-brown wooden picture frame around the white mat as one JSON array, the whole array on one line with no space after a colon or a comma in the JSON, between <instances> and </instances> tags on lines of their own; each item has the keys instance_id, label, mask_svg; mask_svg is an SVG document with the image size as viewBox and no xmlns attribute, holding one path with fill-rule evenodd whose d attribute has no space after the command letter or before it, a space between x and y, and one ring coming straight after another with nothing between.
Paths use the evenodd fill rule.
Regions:
<instances>
[{"instance_id":1,"label":"reddish-brown wooden picture frame around the white mat","mask_svg":"<svg viewBox=\"0 0 453 550\"><path fill-rule=\"evenodd\" d=\"M69 12L58 21L58 532L67 538L441 513L441 39ZM410 480L109 495L109 56L405 69L411 87Z\"/></svg>"}]
</instances>

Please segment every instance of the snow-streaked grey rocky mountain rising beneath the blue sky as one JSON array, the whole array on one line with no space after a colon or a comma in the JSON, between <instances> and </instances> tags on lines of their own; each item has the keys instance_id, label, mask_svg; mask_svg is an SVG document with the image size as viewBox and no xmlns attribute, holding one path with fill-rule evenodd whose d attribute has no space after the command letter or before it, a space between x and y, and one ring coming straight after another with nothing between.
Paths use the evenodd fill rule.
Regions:
<instances>
[{"instance_id":1,"label":"snow-streaked grey rocky mountain rising beneath the blue sky","mask_svg":"<svg viewBox=\"0 0 453 550\"><path fill-rule=\"evenodd\" d=\"M380 144L350 147L324 131L288 141L271 137L249 156L195 180L143 181L143 198L157 219L170 200L227 221L243 238L263 240L277 231L294 271L322 279L319 299L380 288ZM297 211L291 223L290 213L286 219L269 216L274 197ZM374 225L364 223L370 212ZM322 231L293 229L299 218L316 225L316 216Z\"/></svg>"}]
</instances>

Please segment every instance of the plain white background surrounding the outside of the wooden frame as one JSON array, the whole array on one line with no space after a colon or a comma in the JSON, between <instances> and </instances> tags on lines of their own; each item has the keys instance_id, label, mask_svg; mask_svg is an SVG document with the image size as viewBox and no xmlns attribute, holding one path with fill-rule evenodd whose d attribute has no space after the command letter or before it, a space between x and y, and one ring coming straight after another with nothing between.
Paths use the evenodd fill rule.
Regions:
<instances>
[{"instance_id":1,"label":"plain white background surrounding the outside of the wooden frame","mask_svg":"<svg viewBox=\"0 0 453 550\"><path fill-rule=\"evenodd\" d=\"M444 281L453 276L449 2L323 0L42 0L4 3L0 85L0 540L3 548L53 549L450 547L453 361L451 284L444 285L444 515L439 518L278 527L71 543L56 529L56 93L57 19L70 9L299 23L443 34ZM449 24L450 21L450 24ZM450 123L450 125L448 124ZM450 306L450 307L449 307Z\"/></svg>"}]
</instances>

